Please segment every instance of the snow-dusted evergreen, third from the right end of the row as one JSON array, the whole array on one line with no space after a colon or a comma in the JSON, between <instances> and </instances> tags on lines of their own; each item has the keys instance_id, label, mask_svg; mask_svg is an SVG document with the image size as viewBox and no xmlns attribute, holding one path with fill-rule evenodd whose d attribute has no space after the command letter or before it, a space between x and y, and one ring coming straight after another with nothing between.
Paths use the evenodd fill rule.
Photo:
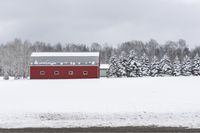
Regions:
<instances>
[{"instance_id":1,"label":"snow-dusted evergreen, third from the right end of the row","mask_svg":"<svg viewBox=\"0 0 200 133\"><path fill-rule=\"evenodd\" d=\"M178 56L176 56L174 63L173 63L172 75L173 76L180 76L181 75L181 62L180 62Z\"/></svg>"}]
</instances>

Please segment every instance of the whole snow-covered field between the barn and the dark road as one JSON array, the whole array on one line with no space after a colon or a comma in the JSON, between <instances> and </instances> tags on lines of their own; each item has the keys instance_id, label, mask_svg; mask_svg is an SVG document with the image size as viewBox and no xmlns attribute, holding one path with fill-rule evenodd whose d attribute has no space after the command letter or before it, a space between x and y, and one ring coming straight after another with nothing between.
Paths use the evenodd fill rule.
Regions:
<instances>
[{"instance_id":1,"label":"whole snow-covered field between the barn and the dark road","mask_svg":"<svg viewBox=\"0 0 200 133\"><path fill-rule=\"evenodd\" d=\"M0 128L200 128L200 77L0 80Z\"/></svg>"}]
</instances>

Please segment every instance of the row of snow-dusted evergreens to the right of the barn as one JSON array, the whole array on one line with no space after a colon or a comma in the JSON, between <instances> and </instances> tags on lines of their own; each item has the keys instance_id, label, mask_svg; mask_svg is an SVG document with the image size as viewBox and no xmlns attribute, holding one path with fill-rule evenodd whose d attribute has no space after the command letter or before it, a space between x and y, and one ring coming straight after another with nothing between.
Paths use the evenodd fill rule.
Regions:
<instances>
[{"instance_id":1,"label":"row of snow-dusted evergreens to the right of the barn","mask_svg":"<svg viewBox=\"0 0 200 133\"><path fill-rule=\"evenodd\" d=\"M182 62L175 57L171 62L168 55L160 60L154 56L151 62L144 53L138 57L135 51L128 56L113 56L110 59L108 77L163 77L163 76L200 76L200 57L197 53L194 58L185 55Z\"/></svg>"}]
</instances>

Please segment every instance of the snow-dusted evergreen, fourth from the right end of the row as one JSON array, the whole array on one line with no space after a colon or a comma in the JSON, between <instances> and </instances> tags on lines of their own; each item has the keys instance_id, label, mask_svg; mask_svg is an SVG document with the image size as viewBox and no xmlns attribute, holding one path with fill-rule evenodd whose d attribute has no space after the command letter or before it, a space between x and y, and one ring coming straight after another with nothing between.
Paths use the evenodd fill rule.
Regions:
<instances>
[{"instance_id":1,"label":"snow-dusted evergreen, fourth from the right end of the row","mask_svg":"<svg viewBox=\"0 0 200 133\"><path fill-rule=\"evenodd\" d=\"M160 76L172 75L172 64L167 55L164 55L164 57L161 59L160 69L161 69Z\"/></svg>"}]
</instances>

